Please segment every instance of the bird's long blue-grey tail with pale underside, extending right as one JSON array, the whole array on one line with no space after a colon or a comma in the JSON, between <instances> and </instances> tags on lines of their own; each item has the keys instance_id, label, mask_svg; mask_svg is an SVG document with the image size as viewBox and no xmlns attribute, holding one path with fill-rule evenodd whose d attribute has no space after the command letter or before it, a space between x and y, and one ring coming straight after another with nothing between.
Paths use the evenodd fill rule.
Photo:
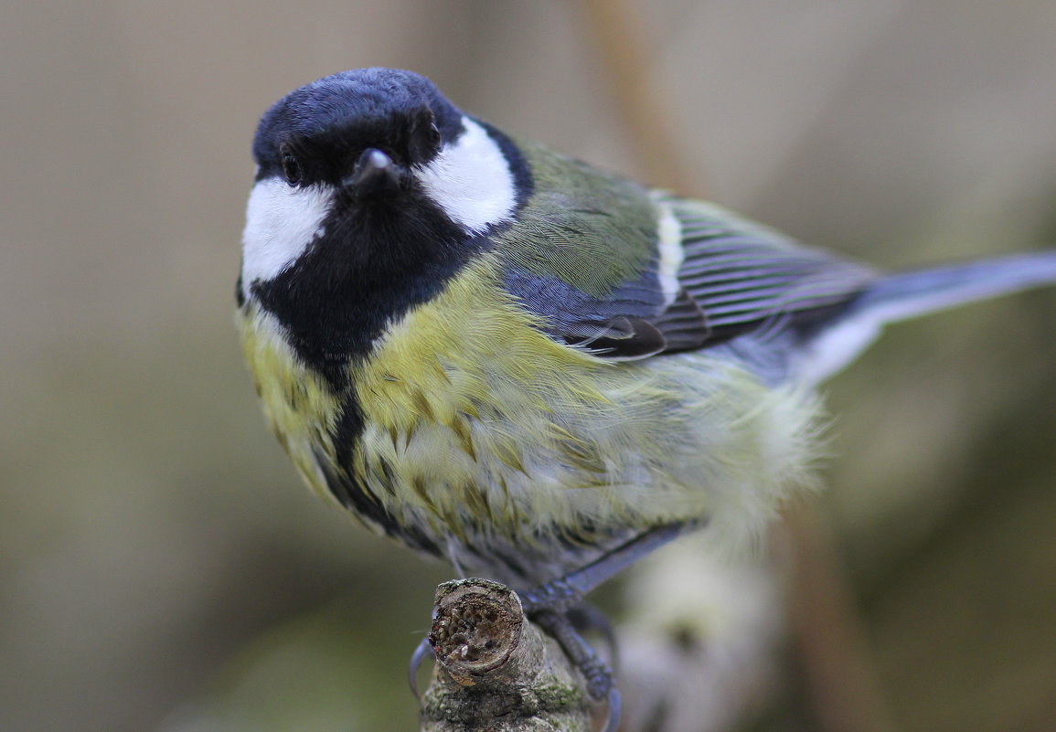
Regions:
<instances>
[{"instance_id":1,"label":"bird's long blue-grey tail with pale underside, extending right","mask_svg":"<svg viewBox=\"0 0 1056 732\"><path fill-rule=\"evenodd\" d=\"M1056 251L883 276L806 344L795 365L797 375L811 383L827 379L872 343L887 323L1053 284Z\"/></svg>"}]
</instances>

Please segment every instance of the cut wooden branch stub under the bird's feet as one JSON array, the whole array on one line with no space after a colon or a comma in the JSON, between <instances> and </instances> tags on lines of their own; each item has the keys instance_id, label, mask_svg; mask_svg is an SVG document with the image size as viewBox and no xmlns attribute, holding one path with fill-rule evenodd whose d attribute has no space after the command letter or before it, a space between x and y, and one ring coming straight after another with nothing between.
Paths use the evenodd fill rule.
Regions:
<instances>
[{"instance_id":1,"label":"cut wooden branch stub under the bird's feet","mask_svg":"<svg viewBox=\"0 0 1056 732\"><path fill-rule=\"evenodd\" d=\"M506 585L439 585L429 641L436 670L421 698L422 732L591 729L583 679Z\"/></svg>"}]
</instances>

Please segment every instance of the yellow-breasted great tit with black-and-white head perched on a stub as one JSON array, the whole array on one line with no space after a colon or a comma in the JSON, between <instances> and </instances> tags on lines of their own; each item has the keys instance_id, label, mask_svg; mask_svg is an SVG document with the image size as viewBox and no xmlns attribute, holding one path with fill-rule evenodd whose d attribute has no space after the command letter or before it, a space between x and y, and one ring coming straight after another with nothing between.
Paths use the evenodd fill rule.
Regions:
<instances>
[{"instance_id":1,"label":"yellow-breasted great tit with black-and-white head perched on a stub","mask_svg":"<svg viewBox=\"0 0 1056 732\"><path fill-rule=\"evenodd\" d=\"M684 532L758 537L817 481L818 386L886 324L1056 282L1052 251L883 272L403 70L290 92L252 155L237 320L298 470L558 616Z\"/></svg>"}]
</instances>

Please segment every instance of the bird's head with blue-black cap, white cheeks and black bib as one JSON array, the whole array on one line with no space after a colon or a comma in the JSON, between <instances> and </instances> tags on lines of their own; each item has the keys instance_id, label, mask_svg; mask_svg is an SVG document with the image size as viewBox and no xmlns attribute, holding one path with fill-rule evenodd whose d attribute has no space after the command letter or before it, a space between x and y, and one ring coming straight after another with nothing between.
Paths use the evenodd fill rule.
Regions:
<instances>
[{"instance_id":1,"label":"bird's head with blue-black cap, white cheeks and black bib","mask_svg":"<svg viewBox=\"0 0 1056 732\"><path fill-rule=\"evenodd\" d=\"M261 119L253 157L239 302L335 383L488 247L531 188L509 138L393 69L286 95Z\"/></svg>"}]
</instances>

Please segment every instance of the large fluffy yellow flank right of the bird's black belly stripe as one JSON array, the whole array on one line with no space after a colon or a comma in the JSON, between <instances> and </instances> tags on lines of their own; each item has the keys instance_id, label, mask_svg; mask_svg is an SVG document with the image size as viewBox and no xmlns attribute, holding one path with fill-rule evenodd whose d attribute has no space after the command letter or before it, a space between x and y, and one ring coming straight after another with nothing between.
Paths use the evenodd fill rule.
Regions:
<instances>
[{"instance_id":1,"label":"large fluffy yellow flank right of the bird's black belly stripe","mask_svg":"<svg viewBox=\"0 0 1056 732\"><path fill-rule=\"evenodd\" d=\"M545 545L706 518L729 540L806 480L812 400L706 353L614 363L561 345L498 272L480 256L350 369L353 469L397 523Z\"/></svg>"}]
</instances>

